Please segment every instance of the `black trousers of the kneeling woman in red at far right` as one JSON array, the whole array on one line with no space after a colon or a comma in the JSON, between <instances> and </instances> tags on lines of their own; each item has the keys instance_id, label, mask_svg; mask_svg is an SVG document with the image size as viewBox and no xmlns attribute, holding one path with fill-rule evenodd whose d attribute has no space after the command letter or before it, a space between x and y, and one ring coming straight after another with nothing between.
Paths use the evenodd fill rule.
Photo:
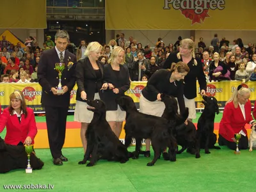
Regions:
<instances>
[{"instance_id":1,"label":"black trousers of the kneeling woman in red at far right","mask_svg":"<svg viewBox=\"0 0 256 192\"><path fill-rule=\"evenodd\" d=\"M232 150L236 150L236 143L226 140L220 134L219 134L219 138L218 138L218 143L219 143L219 145L227 145L228 148L230 148ZM247 149L248 148L247 136L243 136L243 135L241 136L241 139L239 140L239 143L238 143L238 148L239 149Z\"/></svg>"}]
</instances>

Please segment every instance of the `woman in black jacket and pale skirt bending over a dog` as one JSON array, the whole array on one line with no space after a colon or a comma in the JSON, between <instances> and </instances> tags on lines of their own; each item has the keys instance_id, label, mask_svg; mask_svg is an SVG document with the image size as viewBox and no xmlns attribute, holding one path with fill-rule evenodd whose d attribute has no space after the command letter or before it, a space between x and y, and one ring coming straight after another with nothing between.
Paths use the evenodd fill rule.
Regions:
<instances>
[{"instance_id":1,"label":"woman in black jacket and pale skirt bending over a dog","mask_svg":"<svg viewBox=\"0 0 256 192\"><path fill-rule=\"evenodd\" d=\"M165 106L161 102L161 93L177 97L180 113L185 112L183 97L183 82L180 81L188 74L189 67L182 61L173 63L171 69L159 69L148 80L147 86L141 91L140 112L148 115L162 116ZM163 156L166 156L163 153ZM146 140L145 157L150 156L150 140Z\"/></svg>"}]
</instances>

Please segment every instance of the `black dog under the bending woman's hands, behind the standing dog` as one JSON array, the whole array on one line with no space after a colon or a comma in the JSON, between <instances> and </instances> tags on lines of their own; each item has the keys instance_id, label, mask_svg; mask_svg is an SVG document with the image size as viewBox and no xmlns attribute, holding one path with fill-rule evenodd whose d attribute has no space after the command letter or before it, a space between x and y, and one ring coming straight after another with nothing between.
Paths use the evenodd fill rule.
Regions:
<instances>
[{"instance_id":1,"label":"black dog under the bending woman's hands, behind the standing dog","mask_svg":"<svg viewBox=\"0 0 256 192\"><path fill-rule=\"evenodd\" d=\"M170 120L172 124L175 125L173 134L177 140L177 144L182 147L177 154L181 154L189 147L190 152L196 154L196 158L199 158L200 149L197 143L198 140L196 140L196 127L190 121L188 121L188 125L184 124L185 120L188 118L188 108L186 108L185 114L180 115L178 113L178 103L174 97L161 94L161 101L164 102L165 105L162 117Z\"/></svg>"}]
</instances>

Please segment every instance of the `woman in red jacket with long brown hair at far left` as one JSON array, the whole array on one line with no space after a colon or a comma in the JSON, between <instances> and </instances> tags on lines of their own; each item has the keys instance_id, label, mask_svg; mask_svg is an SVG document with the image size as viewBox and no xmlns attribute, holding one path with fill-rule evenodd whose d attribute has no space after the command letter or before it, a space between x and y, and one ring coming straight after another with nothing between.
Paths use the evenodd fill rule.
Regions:
<instances>
[{"instance_id":1,"label":"woman in red jacket with long brown hair at far left","mask_svg":"<svg viewBox=\"0 0 256 192\"><path fill-rule=\"evenodd\" d=\"M37 133L33 109L27 108L24 95L15 91L10 95L10 106L0 117L0 132L6 127L4 142L10 145L30 145Z\"/></svg>"}]
</instances>

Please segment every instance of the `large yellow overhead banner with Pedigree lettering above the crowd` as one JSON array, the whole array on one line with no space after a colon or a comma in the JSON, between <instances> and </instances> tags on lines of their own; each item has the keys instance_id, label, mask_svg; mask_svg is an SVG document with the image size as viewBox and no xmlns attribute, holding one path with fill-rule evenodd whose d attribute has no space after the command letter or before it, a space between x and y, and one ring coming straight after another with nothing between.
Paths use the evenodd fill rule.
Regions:
<instances>
[{"instance_id":1,"label":"large yellow overhead banner with Pedigree lettering above the crowd","mask_svg":"<svg viewBox=\"0 0 256 192\"><path fill-rule=\"evenodd\" d=\"M255 7L255 0L108 0L106 29L256 29L248 19Z\"/></svg>"}]
</instances>

